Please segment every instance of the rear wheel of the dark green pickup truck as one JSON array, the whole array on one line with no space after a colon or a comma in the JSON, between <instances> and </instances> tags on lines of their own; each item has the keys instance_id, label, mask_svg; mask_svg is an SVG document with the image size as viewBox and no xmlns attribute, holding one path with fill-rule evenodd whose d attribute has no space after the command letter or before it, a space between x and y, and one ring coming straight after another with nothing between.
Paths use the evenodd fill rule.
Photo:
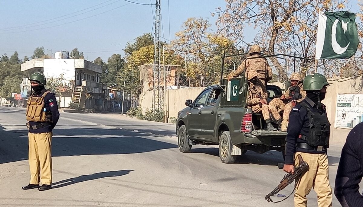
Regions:
<instances>
[{"instance_id":1,"label":"rear wheel of the dark green pickup truck","mask_svg":"<svg viewBox=\"0 0 363 207\"><path fill-rule=\"evenodd\" d=\"M233 163L237 156L232 153L232 140L229 131L224 131L219 139L219 157L223 163Z\"/></svg>"}]
</instances>

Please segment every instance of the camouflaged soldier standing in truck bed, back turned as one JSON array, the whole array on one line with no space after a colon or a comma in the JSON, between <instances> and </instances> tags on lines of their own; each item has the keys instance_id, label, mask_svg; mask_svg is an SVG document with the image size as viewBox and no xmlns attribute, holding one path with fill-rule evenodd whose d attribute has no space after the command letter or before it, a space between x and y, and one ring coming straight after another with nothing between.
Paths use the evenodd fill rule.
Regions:
<instances>
[{"instance_id":1,"label":"camouflaged soldier standing in truck bed, back turned","mask_svg":"<svg viewBox=\"0 0 363 207\"><path fill-rule=\"evenodd\" d=\"M250 70L254 70L257 72L257 78L261 80L262 90L266 93L266 84L268 81L272 79L272 69L269 67L269 64L261 55L261 48L258 45L253 45L249 51L249 57L261 57L261 58L254 58L254 59L245 59L240 66L238 66L237 70L231 73L227 79L233 79L241 75L245 70L246 73ZM246 68L245 68L246 67Z\"/></svg>"}]
</instances>

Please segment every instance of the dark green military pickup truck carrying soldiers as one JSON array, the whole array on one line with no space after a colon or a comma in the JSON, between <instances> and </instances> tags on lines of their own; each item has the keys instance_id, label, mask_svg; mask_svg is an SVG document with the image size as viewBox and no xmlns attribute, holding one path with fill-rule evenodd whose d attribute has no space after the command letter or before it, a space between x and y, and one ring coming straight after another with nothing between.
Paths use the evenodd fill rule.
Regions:
<instances>
[{"instance_id":1,"label":"dark green military pickup truck carrying soldiers","mask_svg":"<svg viewBox=\"0 0 363 207\"><path fill-rule=\"evenodd\" d=\"M267 86L269 100L282 95L275 85ZM180 152L191 151L192 145L219 145L224 163L233 163L248 150L265 153L276 150L284 154L286 132L266 131L262 114L247 107L248 83L245 77L223 80L223 84L205 88L179 111L176 134ZM272 123L278 128L277 123Z\"/></svg>"}]
</instances>

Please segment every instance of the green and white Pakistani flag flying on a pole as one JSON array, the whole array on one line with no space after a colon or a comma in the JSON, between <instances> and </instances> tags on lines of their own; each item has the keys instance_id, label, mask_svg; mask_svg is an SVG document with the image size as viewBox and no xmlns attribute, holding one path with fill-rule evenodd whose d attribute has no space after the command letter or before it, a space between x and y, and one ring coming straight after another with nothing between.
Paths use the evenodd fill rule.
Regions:
<instances>
[{"instance_id":1,"label":"green and white Pakistani flag flying on a pole","mask_svg":"<svg viewBox=\"0 0 363 207\"><path fill-rule=\"evenodd\" d=\"M315 60L350 58L357 48L358 32L354 13L319 12Z\"/></svg>"}]
</instances>

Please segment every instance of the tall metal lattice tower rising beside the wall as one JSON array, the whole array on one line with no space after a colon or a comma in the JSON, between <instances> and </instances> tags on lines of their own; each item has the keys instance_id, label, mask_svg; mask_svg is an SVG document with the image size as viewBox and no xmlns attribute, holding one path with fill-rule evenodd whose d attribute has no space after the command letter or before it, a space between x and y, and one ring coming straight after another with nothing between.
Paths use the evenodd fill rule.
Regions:
<instances>
[{"instance_id":1,"label":"tall metal lattice tower rising beside the wall","mask_svg":"<svg viewBox=\"0 0 363 207\"><path fill-rule=\"evenodd\" d=\"M155 3L155 33L154 33L154 68L152 81L152 110L162 110L162 92L160 89L160 0Z\"/></svg>"}]
</instances>

